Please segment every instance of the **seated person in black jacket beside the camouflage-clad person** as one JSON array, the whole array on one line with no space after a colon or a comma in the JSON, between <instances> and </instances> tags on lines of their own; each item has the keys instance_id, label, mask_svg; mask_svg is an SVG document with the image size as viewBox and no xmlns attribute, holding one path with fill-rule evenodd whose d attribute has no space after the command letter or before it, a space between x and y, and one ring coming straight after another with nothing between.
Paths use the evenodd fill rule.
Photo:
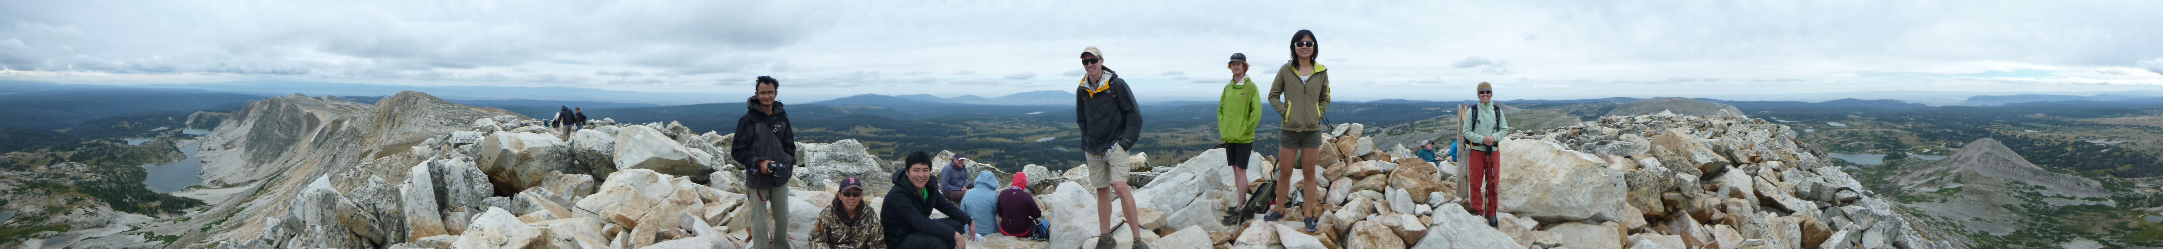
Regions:
<instances>
[{"instance_id":1,"label":"seated person in black jacket beside the camouflage-clad person","mask_svg":"<svg viewBox=\"0 0 2163 249\"><path fill-rule=\"evenodd\" d=\"M939 184L932 182L932 156L924 152L908 154L902 158L908 165L893 173L893 191L887 191L887 204L878 210L878 221L885 225L887 247L891 249L967 249L967 236L960 234L969 225L969 214L960 212L954 201L945 197L934 197L941 193ZM930 219L932 210L947 214L945 219Z\"/></svg>"}]
</instances>

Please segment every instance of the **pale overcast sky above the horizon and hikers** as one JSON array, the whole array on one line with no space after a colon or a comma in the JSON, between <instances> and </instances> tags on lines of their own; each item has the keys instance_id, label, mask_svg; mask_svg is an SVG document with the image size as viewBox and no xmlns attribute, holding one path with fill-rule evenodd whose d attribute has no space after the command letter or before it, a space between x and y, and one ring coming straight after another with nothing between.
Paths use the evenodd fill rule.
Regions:
<instances>
[{"instance_id":1,"label":"pale overcast sky above the horizon and hikers","mask_svg":"<svg viewBox=\"0 0 2163 249\"><path fill-rule=\"evenodd\" d=\"M0 0L0 80L1073 91L1270 84L1315 30L1337 100L2159 91L2157 0Z\"/></svg>"}]
</instances>

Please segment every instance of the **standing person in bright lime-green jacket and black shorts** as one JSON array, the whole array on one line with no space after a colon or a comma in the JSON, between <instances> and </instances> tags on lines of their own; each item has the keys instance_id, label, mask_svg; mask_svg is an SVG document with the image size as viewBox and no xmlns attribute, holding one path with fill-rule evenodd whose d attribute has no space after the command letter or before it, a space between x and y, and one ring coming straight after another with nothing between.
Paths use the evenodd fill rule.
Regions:
<instances>
[{"instance_id":1,"label":"standing person in bright lime-green jacket and black shorts","mask_svg":"<svg viewBox=\"0 0 2163 249\"><path fill-rule=\"evenodd\" d=\"M1261 95L1255 78L1246 78L1246 54L1233 52L1231 84L1218 95L1218 134L1224 136L1224 165L1231 165L1233 193L1246 204L1246 158L1255 152L1255 126L1261 123Z\"/></svg>"}]
</instances>

